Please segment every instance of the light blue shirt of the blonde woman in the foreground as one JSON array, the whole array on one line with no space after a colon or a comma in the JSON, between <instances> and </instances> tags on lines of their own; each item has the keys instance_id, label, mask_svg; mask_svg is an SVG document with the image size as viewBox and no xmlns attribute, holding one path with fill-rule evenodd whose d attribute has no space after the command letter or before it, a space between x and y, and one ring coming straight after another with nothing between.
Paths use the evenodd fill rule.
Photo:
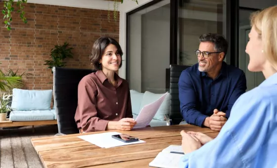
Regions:
<instances>
[{"instance_id":1,"label":"light blue shirt of the blonde woman in the foreground","mask_svg":"<svg viewBox=\"0 0 277 168\"><path fill-rule=\"evenodd\" d=\"M277 168L277 73L242 94L218 136L181 168Z\"/></svg>"}]
</instances>

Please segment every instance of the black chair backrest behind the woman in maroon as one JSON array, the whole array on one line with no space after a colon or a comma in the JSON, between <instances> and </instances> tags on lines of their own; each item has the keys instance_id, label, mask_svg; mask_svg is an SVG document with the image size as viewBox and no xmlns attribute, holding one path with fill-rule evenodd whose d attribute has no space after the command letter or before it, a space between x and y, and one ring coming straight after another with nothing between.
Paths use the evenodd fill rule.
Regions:
<instances>
[{"instance_id":1,"label":"black chair backrest behind the woman in maroon","mask_svg":"<svg viewBox=\"0 0 277 168\"><path fill-rule=\"evenodd\" d=\"M79 133L74 119L78 105L78 84L84 76L95 71L61 67L54 67L52 71L58 131L63 134Z\"/></svg>"}]
</instances>

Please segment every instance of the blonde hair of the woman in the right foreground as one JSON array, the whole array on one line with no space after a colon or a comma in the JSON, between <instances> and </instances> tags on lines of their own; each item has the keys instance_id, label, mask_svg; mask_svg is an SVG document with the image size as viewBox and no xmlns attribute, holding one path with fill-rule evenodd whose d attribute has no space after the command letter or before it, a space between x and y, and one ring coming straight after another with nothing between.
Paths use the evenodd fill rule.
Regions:
<instances>
[{"instance_id":1,"label":"blonde hair of the woman in the right foreground","mask_svg":"<svg viewBox=\"0 0 277 168\"><path fill-rule=\"evenodd\" d=\"M252 13L251 26L260 35L263 50L272 66L277 69L277 6Z\"/></svg>"}]
</instances>

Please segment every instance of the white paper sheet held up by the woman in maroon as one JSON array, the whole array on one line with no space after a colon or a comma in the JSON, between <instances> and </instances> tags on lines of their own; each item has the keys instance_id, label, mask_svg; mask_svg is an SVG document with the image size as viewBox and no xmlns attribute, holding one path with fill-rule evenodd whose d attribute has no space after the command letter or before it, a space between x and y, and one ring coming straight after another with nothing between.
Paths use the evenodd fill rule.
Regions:
<instances>
[{"instance_id":1,"label":"white paper sheet held up by the woman in maroon","mask_svg":"<svg viewBox=\"0 0 277 168\"><path fill-rule=\"evenodd\" d=\"M162 97L160 97L153 103L147 104L144 107L142 107L138 117L136 118L137 124L134 126L134 128L146 127L150 124L151 120L159 110L167 94L168 92L166 92Z\"/></svg>"}]
</instances>

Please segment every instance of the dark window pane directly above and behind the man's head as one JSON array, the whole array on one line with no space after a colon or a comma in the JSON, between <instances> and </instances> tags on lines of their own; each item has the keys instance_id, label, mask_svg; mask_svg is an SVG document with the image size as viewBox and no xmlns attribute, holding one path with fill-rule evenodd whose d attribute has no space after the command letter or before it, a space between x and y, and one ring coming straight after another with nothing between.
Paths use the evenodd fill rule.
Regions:
<instances>
[{"instance_id":1,"label":"dark window pane directly above and behind the man's head","mask_svg":"<svg viewBox=\"0 0 277 168\"><path fill-rule=\"evenodd\" d=\"M180 0L178 27L178 64L197 63L194 50L200 35L226 35L226 0ZM226 37L226 36L225 36Z\"/></svg>"}]
</instances>

